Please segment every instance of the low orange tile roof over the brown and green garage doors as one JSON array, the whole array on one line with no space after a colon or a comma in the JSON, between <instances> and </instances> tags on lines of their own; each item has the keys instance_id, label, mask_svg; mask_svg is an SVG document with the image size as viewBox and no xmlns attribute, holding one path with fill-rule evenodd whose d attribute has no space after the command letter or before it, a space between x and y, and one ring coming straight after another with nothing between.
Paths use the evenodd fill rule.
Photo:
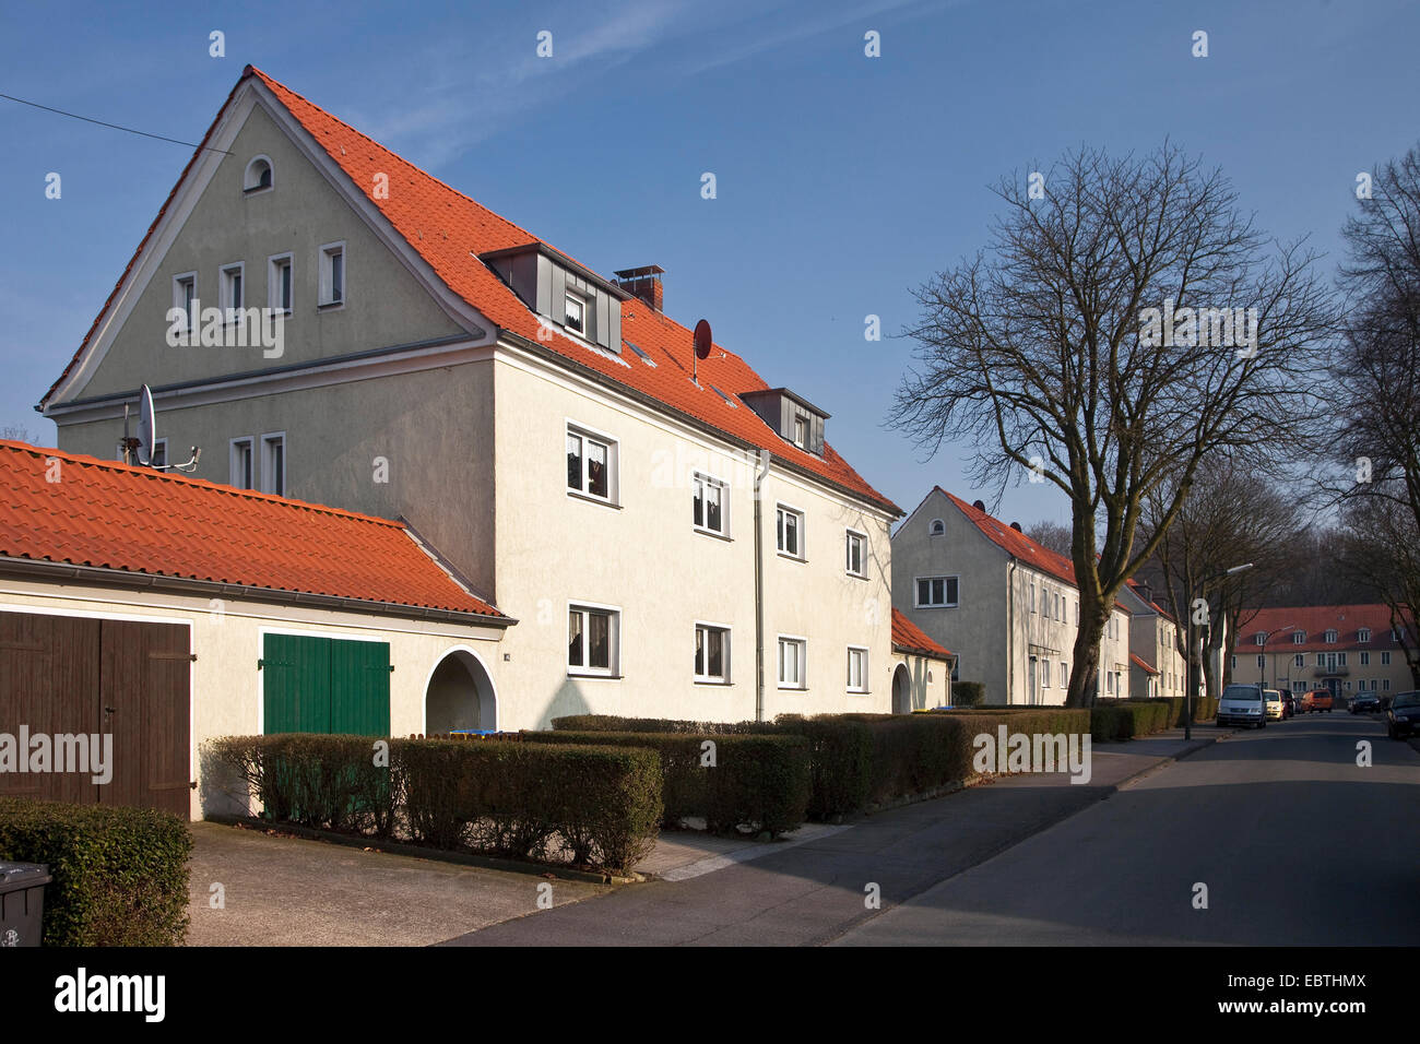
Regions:
<instances>
[{"instance_id":1,"label":"low orange tile roof over the brown and green garage doors","mask_svg":"<svg viewBox=\"0 0 1420 1044\"><path fill-rule=\"evenodd\" d=\"M9 440L0 491L10 558L510 622L388 518Z\"/></svg>"}]
</instances>

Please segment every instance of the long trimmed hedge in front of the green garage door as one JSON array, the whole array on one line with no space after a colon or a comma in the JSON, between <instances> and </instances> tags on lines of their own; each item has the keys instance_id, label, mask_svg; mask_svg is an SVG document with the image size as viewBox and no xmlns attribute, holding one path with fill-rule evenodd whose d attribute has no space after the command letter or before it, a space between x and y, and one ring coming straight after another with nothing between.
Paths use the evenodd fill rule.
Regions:
<instances>
[{"instance_id":1,"label":"long trimmed hedge in front of the green garage door","mask_svg":"<svg viewBox=\"0 0 1420 1044\"><path fill-rule=\"evenodd\" d=\"M376 743L388 743L381 764ZM447 851L630 872L656 842L660 761L643 747L234 736L204 756L263 818Z\"/></svg>"}]
</instances>

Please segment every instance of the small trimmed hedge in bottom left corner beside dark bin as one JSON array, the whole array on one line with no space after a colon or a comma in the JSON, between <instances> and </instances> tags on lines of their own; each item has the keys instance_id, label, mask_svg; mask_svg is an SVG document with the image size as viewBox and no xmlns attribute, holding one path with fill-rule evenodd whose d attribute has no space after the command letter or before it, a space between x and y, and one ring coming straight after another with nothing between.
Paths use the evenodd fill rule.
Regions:
<instances>
[{"instance_id":1,"label":"small trimmed hedge in bottom left corner beside dark bin","mask_svg":"<svg viewBox=\"0 0 1420 1044\"><path fill-rule=\"evenodd\" d=\"M0 859L43 862L45 946L180 946L187 824L153 808L0 798Z\"/></svg>"}]
</instances>

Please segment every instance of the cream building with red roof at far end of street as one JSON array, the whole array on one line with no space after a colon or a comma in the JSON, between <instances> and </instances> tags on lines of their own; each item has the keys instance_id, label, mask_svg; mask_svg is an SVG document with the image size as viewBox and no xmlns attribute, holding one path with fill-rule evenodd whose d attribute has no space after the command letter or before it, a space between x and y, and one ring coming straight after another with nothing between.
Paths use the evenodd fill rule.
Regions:
<instances>
[{"instance_id":1,"label":"cream building with red roof at far end of street","mask_svg":"<svg viewBox=\"0 0 1420 1044\"><path fill-rule=\"evenodd\" d=\"M1305 605L1244 615L1233 643L1233 680L1332 695L1414 689L1406 645L1384 605Z\"/></svg>"}]
</instances>

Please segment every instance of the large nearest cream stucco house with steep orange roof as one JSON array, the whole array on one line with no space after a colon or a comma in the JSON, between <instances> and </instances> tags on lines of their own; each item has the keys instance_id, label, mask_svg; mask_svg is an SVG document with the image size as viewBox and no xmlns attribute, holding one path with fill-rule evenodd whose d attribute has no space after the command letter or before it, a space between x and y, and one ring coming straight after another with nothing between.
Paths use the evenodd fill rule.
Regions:
<instances>
[{"instance_id":1,"label":"large nearest cream stucco house with steep orange roof","mask_svg":"<svg viewBox=\"0 0 1420 1044\"><path fill-rule=\"evenodd\" d=\"M405 520L520 621L498 729L892 709L900 509L659 266L604 276L251 67L202 145L40 402L64 450L112 457L148 384L199 477Z\"/></svg>"}]
</instances>

